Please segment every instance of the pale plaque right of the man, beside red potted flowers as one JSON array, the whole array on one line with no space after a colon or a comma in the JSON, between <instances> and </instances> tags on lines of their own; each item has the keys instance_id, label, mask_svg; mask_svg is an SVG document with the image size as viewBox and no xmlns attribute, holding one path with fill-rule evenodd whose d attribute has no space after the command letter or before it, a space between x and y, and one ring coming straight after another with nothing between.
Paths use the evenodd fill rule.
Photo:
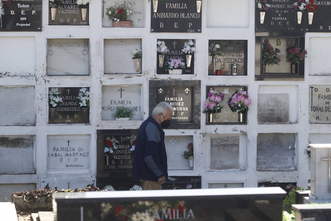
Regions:
<instances>
[{"instance_id":1,"label":"pale plaque right of the man, beside red potted flowers","mask_svg":"<svg viewBox=\"0 0 331 221\"><path fill-rule=\"evenodd\" d=\"M191 170L188 159L183 158L192 136L165 136L168 170ZM194 144L193 144L194 145Z\"/></svg>"}]
</instances>

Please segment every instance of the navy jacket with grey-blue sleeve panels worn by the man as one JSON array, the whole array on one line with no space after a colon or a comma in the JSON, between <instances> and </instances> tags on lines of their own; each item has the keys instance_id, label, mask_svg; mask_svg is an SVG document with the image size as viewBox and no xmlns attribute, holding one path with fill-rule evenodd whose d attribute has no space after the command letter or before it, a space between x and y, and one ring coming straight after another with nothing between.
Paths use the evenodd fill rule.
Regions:
<instances>
[{"instance_id":1,"label":"navy jacket with grey-blue sleeve panels worn by the man","mask_svg":"<svg viewBox=\"0 0 331 221\"><path fill-rule=\"evenodd\" d=\"M138 130L132 163L132 177L140 180L158 181L168 177L165 133L152 116Z\"/></svg>"}]
</instances>

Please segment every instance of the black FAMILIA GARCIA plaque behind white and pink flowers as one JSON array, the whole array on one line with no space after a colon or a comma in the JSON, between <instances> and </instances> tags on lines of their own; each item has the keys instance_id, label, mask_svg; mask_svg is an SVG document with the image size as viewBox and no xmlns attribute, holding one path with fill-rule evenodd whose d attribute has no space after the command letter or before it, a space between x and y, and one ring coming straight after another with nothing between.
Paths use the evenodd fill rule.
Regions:
<instances>
[{"instance_id":1,"label":"black FAMILIA GARCIA plaque behind white and pink flowers","mask_svg":"<svg viewBox=\"0 0 331 221\"><path fill-rule=\"evenodd\" d=\"M185 49L184 44L188 44L190 48L195 48L195 39L157 39L157 42L163 42L169 51L157 52L157 66L156 73L159 75L163 74L173 74L169 70L168 65L171 60L181 60L185 63L185 69L181 71L182 75L193 75L194 74L194 51L190 50L190 53L183 51ZM160 45L158 45L158 48ZM162 45L161 45L162 47ZM162 51L162 50L161 50ZM175 70L175 69L174 69ZM181 70L181 69L177 69Z\"/></svg>"}]
</instances>

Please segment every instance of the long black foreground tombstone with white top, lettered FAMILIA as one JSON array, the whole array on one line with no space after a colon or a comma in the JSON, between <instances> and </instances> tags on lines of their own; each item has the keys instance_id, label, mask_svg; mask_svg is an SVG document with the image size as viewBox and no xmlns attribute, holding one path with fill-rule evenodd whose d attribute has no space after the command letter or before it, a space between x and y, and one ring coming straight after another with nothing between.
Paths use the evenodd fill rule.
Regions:
<instances>
[{"instance_id":1,"label":"long black foreground tombstone with white top, lettered FAMILIA","mask_svg":"<svg viewBox=\"0 0 331 221\"><path fill-rule=\"evenodd\" d=\"M55 220L281 220L279 187L55 193Z\"/></svg>"}]
</instances>

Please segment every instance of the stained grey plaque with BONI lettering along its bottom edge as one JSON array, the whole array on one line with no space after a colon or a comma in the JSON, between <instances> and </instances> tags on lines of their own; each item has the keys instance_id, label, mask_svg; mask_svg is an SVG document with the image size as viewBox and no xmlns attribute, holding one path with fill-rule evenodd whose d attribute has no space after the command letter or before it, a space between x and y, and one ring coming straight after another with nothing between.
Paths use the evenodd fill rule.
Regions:
<instances>
[{"instance_id":1,"label":"stained grey plaque with BONI lettering along its bottom edge","mask_svg":"<svg viewBox=\"0 0 331 221\"><path fill-rule=\"evenodd\" d=\"M295 170L296 134L258 134L257 170Z\"/></svg>"}]
</instances>

